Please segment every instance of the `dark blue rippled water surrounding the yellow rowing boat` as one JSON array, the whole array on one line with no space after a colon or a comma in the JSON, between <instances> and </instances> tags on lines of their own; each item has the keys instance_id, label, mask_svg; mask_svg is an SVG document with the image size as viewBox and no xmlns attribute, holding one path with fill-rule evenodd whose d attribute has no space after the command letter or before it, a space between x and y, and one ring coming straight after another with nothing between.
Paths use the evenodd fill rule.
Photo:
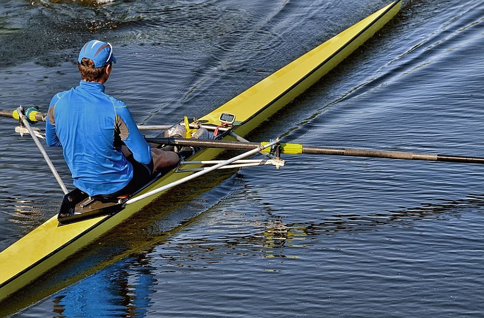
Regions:
<instances>
[{"instance_id":1,"label":"dark blue rippled water surrounding the yellow rowing boat","mask_svg":"<svg viewBox=\"0 0 484 318\"><path fill-rule=\"evenodd\" d=\"M99 38L114 44L118 59L107 92L139 124L208 113L387 4L0 2L0 108L45 110L54 93L77 84L79 47ZM483 1L407 1L378 36L250 139L483 156L483 26ZM3 249L55 214L62 192L33 142L0 121ZM48 152L71 185L62 153ZM286 160L279 171L218 173L171 191L3 310L482 315L484 167Z\"/></svg>"}]
</instances>

